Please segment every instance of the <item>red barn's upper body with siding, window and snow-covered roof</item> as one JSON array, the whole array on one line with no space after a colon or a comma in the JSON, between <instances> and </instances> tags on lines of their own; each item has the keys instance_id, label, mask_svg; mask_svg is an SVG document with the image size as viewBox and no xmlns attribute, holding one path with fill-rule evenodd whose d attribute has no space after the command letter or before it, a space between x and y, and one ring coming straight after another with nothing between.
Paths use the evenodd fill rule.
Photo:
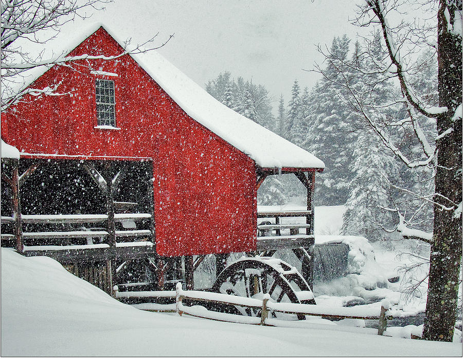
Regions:
<instances>
[{"instance_id":1,"label":"red barn's upper body with siding, window and snow-covered roof","mask_svg":"<svg viewBox=\"0 0 463 359\"><path fill-rule=\"evenodd\" d=\"M21 161L149 164L160 256L256 250L256 191L265 176L292 172L309 183L324 168L157 53L124 55L103 27L68 53L83 55L27 85L60 95L29 91L2 113L2 139Z\"/></svg>"}]
</instances>

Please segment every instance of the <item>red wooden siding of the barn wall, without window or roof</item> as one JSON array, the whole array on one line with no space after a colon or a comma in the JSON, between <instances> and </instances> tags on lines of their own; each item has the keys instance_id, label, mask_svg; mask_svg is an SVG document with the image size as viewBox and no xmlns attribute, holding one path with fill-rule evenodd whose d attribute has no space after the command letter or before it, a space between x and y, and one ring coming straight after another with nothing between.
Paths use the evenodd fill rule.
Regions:
<instances>
[{"instance_id":1,"label":"red wooden siding of the barn wall, without window or roof","mask_svg":"<svg viewBox=\"0 0 463 359\"><path fill-rule=\"evenodd\" d=\"M122 51L100 28L69 55L101 48ZM159 255L255 250L254 161L190 118L131 57L80 63L80 72L55 66L35 81L61 82L57 92L70 94L26 95L2 114L2 138L34 154L153 158ZM92 75L88 65L119 76ZM120 130L94 128L95 79L115 82Z\"/></svg>"}]
</instances>

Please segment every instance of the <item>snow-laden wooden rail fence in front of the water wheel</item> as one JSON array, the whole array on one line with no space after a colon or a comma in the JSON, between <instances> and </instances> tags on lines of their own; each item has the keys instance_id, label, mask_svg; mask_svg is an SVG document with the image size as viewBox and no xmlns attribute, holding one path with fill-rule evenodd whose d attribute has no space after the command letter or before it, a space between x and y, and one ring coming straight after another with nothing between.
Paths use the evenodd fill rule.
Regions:
<instances>
[{"instance_id":1,"label":"snow-laden wooden rail fence in front of the water wheel","mask_svg":"<svg viewBox=\"0 0 463 359\"><path fill-rule=\"evenodd\" d=\"M116 298L175 298L173 304L140 303L131 306L152 312L176 312L179 315L188 314L204 319L213 319L242 324L253 324L263 326L287 326L287 320L269 318L269 312L280 312L289 314L302 314L312 316L323 316L336 319L377 319L378 335L383 335L387 327L387 320L393 318L387 309L382 305L381 310L371 308L330 308L313 304L298 303L275 303L270 301L268 294L262 300L255 298L239 297L221 293L211 293L204 291L183 290L182 284L177 283L175 291L152 291L152 292L119 292L115 287ZM247 317L237 314L220 313L210 311L204 307L186 306L183 299L212 302L216 304L227 304L245 308L260 309L260 316ZM299 327L299 326L298 326Z\"/></svg>"}]
</instances>

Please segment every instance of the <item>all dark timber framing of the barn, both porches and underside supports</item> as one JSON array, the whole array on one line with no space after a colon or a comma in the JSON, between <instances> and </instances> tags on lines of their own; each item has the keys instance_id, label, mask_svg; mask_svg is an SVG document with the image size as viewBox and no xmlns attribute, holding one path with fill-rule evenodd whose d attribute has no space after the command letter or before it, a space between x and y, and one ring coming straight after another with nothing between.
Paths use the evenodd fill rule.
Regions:
<instances>
[{"instance_id":1,"label":"all dark timber framing of the barn, both porches and underside supports","mask_svg":"<svg viewBox=\"0 0 463 359\"><path fill-rule=\"evenodd\" d=\"M146 159L143 159L146 160ZM2 162L9 164L11 170L8 173L2 171L2 179L11 187L12 193L12 217L3 217L2 223L13 224L13 235L2 234L2 238L13 238L15 240L15 248L18 253L25 256L48 256L56 259L65 265L69 271L79 275L87 281L95 281L95 285L105 290L109 294L113 293L113 283L117 276L116 261L133 261L146 260L153 258L157 263L155 271L157 274L158 288L164 289L165 277L182 271L182 257L161 257L156 254L155 248L155 225L154 225L154 206L153 206L153 183L152 172L150 173L149 181L147 181L147 193L149 195L148 207L150 217L149 231L140 230L141 234L150 234L152 245L147 246L123 246L117 245L117 238L122 234L116 231L116 223L124 219L123 215L115 213L115 194L128 171L127 161L125 160L90 160L90 159L26 159L29 161L29 167L20 174L18 159L2 158ZM20 188L25 181L38 169L46 169L49 164L57 166L76 166L80 164L82 168L90 175L90 178L100 190L104 199L105 215L56 215L43 218L41 216L26 215L21 213L21 195ZM61 167L60 167L61 168ZM282 168L269 169L257 168L256 189L258 189L265 178L269 175L294 173L299 181L307 188L307 210L306 211L276 211L258 214L258 218L275 218L276 225L273 229L276 231L277 237L280 238L265 238L258 239L256 252L247 253L248 256L260 254L261 256L273 256L278 248L291 248L297 258L302 263L302 276L313 284L313 245L314 245L314 206L313 193L315 172L321 172L322 169L296 169ZM88 178L88 177L87 177ZM288 228L287 225L279 224L280 217L305 217L306 225L292 226L290 236L280 236L280 229ZM90 232L53 232L56 238L86 238L91 237L104 238L104 243L107 247L92 247L92 248L66 248L66 249L51 249L44 247L24 250L24 240L47 238L47 232L41 235L40 233L24 232L23 224L70 224L70 223L99 223L105 222L105 231L90 231ZM306 228L306 236L299 235L299 228ZM265 226L263 226L265 227ZM272 226L270 226L272 227ZM229 254L219 253L216 257L217 276L226 267L226 261ZM184 265L184 280L187 289L193 289L194 281L193 274L197 270L206 255L201 256L183 256ZM178 274L178 273L177 273ZM167 277L166 277L167 278Z\"/></svg>"}]
</instances>

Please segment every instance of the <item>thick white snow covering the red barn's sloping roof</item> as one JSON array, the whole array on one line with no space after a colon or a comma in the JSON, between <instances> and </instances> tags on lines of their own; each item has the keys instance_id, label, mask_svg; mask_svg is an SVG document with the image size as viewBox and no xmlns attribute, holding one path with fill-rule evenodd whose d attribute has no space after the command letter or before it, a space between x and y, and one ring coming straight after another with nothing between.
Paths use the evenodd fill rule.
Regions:
<instances>
[{"instance_id":1,"label":"thick white snow covering the red barn's sloping roof","mask_svg":"<svg viewBox=\"0 0 463 359\"><path fill-rule=\"evenodd\" d=\"M123 41L118 40L115 32L98 24L98 28L100 26L108 31L119 44L123 44ZM86 34L90 35L95 31L95 26L93 26L92 31ZM85 38L81 37L72 48L75 48ZM263 168L325 168L323 161L311 153L217 101L157 51L151 50L131 56L191 118L250 156L259 166ZM47 69L36 72L23 88Z\"/></svg>"}]
</instances>

